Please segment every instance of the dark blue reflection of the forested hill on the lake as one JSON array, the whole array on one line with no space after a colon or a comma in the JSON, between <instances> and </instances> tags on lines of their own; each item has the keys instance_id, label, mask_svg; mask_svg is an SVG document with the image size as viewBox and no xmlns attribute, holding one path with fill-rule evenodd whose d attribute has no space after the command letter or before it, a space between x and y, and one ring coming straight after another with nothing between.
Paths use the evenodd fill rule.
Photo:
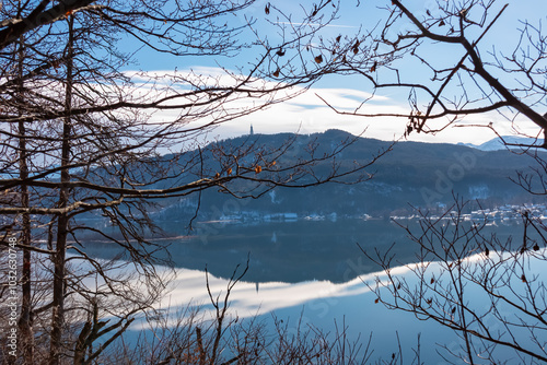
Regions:
<instances>
[{"instance_id":1,"label":"dark blue reflection of the forested hill on the lake","mask_svg":"<svg viewBox=\"0 0 547 365\"><path fill-rule=\"evenodd\" d=\"M418 221L405 221L419 229ZM188 234L184 224L162 223L167 238L158 239L168 248L177 268L203 270L216 276L229 278L237 264L249 257L248 282L330 281L348 282L361 274L379 271L368 260L358 244L366 250L377 249L396 254L394 264L416 262L418 246L406 237L405 231L389 221L338 220L261 222L256 224L198 223L200 235ZM520 231L516 222L487 227L503 239ZM175 237L175 238L168 238ZM158 237L160 238L160 237ZM117 248L112 244L90 240L89 251L102 258L112 258Z\"/></svg>"}]
</instances>

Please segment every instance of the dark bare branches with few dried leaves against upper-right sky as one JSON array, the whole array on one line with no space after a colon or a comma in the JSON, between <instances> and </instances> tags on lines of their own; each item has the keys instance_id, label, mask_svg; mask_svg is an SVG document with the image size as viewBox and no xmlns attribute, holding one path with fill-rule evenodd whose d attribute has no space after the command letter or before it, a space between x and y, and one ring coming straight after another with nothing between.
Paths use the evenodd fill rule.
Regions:
<instances>
[{"instance_id":1,"label":"dark bare branches with few dried leaves against upper-right sky","mask_svg":"<svg viewBox=\"0 0 547 365\"><path fill-rule=\"evenodd\" d=\"M540 24L526 20L517 30L499 26L516 5L469 0L433 1L424 8L385 1L380 7L386 16L376 28L339 36L317 49L331 55L328 72L361 75L374 93L408 92L409 113L368 113L366 102L352 111L333 108L349 116L408 119L405 134L465 127L473 116L494 111L502 116L500 123L514 122L516 130L517 118L534 122L537 133L532 137L542 139L547 127L545 35ZM491 44L490 35L500 32L516 35L512 51ZM482 127L496 131L499 125Z\"/></svg>"}]
</instances>

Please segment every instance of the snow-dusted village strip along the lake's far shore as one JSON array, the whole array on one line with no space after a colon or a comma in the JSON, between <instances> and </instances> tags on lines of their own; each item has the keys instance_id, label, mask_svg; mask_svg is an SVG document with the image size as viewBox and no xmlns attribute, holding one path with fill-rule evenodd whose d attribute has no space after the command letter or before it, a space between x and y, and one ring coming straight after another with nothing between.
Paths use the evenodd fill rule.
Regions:
<instances>
[{"instance_id":1,"label":"snow-dusted village strip along the lake's far shore","mask_svg":"<svg viewBox=\"0 0 547 365\"><path fill-rule=\"evenodd\" d=\"M438 203L437 211L445 212L446 204ZM468 213L463 213L461 219L467 222L484 222L487 221L487 224L498 225L498 224L514 224L522 221L523 212L528 212L528 216L539 219L540 221L547 221L547 204L522 204L522 205L513 205L513 204L504 204L502 207L497 207L493 209L477 209L473 210ZM237 213L231 214L222 214L218 220L209 221L207 223L226 223L226 224L237 224L237 223L251 223L251 222L296 222L300 220L304 221L331 221L336 222L338 219L360 219L364 221L369 220L423 220L424 217L419 214L406 215L406 214L397 214L397 211L392 212L388 216L372 216L369 214L361 215L339 215L335 212L329 214L318 214L312 213L309 215L299 215L298 213L270 213L270 214L261 214L256 211L241 211ZM428 219L430 220L452 220L457 214L456 211L451 211L449 214L437 215L437 214L428 214Z\"/></svg>"}]
</instances>

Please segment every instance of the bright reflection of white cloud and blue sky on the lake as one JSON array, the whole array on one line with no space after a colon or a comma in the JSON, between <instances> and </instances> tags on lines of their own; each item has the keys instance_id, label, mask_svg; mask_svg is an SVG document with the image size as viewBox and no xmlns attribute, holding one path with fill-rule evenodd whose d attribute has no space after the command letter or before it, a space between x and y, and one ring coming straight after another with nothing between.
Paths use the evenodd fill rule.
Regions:
<instances>
[{"instance_id":1,"label":"bright reflection of white cloud and blue sky on the lake","mask_svg":"<svg viewBox=\"0 0 547 365\"><path fill-rule=\"evenodd\" d=\"M472 257L470 262L479 262L480 255ZM544 261L532 259L528 264L532 272L542 272ZM430 263L431 272L441 272L437 263ZM160 308L185 307L188 303L202 304L203 311L213 316L213 308L206 291L206 274L202 271L177 269L176 280L171 283L171 292L159 305ZM418 284L418 278L407 267L398 267L393 271L397 278L405 280L410 286ZM366 285L373 284L380 278L385 280L382 272L361 275L349 282L336 284L328 281L307 281L301 283L269 282L257 283L242 281L231 293L230 316L242 320L253 320L264 323L269 334L275 333L274 317L286 321L290 332L299 328L319 328L325 332L334 333L336 329L348 326L346 334L351 341L366 343L372 334L372 360L389 360L393 353L401 351L404 361L414 363L416 351L420 351L420 358L424 364L459 364L454 357L464 354L465 342L456 332L438 325L432 320L419 320L412 314L401 310L389 310L382 304L376 304L375 293ZM542 280L545 273L542 274ZM216 296L225 293L225 279L209 276L211 293ZM512 290L520 290L522 284L515 283ZM467 297L474 298L473 308L488 308L490 303L478 285L466 285ZM503 303L497 308L501 313L512 313L512 308ZM206 318L209 318L206 316ZM485 317L485 322L496 327L493 317ZM344 325L345 323L345 325ZM146 328L132 327L133 330ZM523 328L513 333L526 337ZM135 334L137 335L137 334ZM419 343L419 344L418 344ZM498 358L514 360L514 353L509 348L497 348L493 355ZM451 358L445 361L443 356ZM452 362L454 361L454 362ZM527 363L523 361L523 363Z\"/></svg>"}]
</instances>

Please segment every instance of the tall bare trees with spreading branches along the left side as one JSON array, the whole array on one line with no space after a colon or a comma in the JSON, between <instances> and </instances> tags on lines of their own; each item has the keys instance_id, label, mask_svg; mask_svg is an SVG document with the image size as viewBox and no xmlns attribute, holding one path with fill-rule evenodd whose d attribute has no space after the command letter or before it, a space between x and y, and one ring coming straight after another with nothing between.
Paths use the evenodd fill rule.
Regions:
<instances>
[{"instance_id":1,"label":"tall bare trees with spreading branches along the left side","mask_svg":"<svg viewBox=\"0 0 547 365\"><path fill-rule=\"evenodd\" d=\"M254 32L243 13L253 2L2 3L0 213L2 247L23 252L20 362L97 362L136 313L161 296L168 275L155 266L168 260L153 240L158 201L210 188L243 198L276 186L347 182L349 174L370 178L365 168L376 157L350 167L334 158L351 140L321 155L311 148L298 161L283 160L292 141L272 149L251 140L235 150L199 145L216 126L294 96L322 72L294 76L271 69L281 48L309 43L335 16L330 1L305 13L276 46L258 33L259 46L241 40L242 32ZM288 16L270 5L266 13ZM181 59L260 52L236 71L219 68L220 76L127 72L133 56L120 42ZM302 87L292 91L295 85ZM168 116L154 118L161 111ZM118 245L121 256L112 262L90 257L90 235ZM136 276L142 285L132 285Z\"/></svg>"}]
</instances>

